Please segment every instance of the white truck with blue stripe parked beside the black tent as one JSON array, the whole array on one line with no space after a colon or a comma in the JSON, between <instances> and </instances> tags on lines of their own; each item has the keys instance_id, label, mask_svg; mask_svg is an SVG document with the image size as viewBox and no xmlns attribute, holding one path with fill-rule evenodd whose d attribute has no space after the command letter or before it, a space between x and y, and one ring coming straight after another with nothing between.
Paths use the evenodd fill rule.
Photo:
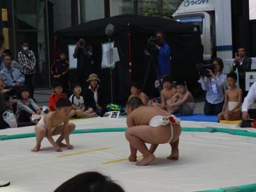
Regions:
<instances>
[{"instance_id":1,"label":"white truck with blue stripe parked beside the black tent","mask_svg":"<svg viewBox=\"0 0 256 192\"><path fill-rule=\"evenodd\" d=\"M201 31L204 61L219 57L224 62L223 72L230 72L237 47L232 44L231 0L185 0L173 13L173 20L198 24ZM256 58L252 58L252 69Z\"/></svg>"}]
</instances>

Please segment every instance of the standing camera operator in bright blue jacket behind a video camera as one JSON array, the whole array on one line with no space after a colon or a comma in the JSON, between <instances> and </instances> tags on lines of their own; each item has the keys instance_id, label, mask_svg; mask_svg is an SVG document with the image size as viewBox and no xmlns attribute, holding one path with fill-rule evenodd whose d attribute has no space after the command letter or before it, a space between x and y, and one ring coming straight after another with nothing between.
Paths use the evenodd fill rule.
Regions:
<instances>
[{"instance_id":1,"label":"standing camera operator in bright blue jacket behind a video camera","mask_svg":"<svg viewBox=\"0 0 256 192\"><path fill-rule=\"evenodd\" d=\"M164 76L170 76L170 47L164 41L164 31L156 31L155 35L157 37L155 50L152 51L152 53L145 51L145 54L153 54L154 56L154 61L156 63L155 71L157 75L156 87L160 93L161 90L163 90L163 85L160 83L161 79L163 79Z\"/></svg>"}]
</instances>

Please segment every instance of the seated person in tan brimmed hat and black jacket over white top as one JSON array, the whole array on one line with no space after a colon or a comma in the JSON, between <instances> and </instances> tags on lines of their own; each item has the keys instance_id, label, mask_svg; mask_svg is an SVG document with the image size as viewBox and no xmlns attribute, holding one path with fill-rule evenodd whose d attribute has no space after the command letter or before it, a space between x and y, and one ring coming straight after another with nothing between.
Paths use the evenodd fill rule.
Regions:
<instances>
[{"instance_id":1,"label":"seated person in tan brimmed hat and black jacket over white top","mask_svg":"<svg viewBox=\"0 0 256 192\"><path fill-rule=\"evenodd\" d=\"M90 74L86 82L90 83L87 90L85 90L84 103L87 108L93 108L93 111L99 116L103 116L106 112L106 102L104 97L104 90L99 86L100 79L97 74Z\"/></svg>"}]
</instances>

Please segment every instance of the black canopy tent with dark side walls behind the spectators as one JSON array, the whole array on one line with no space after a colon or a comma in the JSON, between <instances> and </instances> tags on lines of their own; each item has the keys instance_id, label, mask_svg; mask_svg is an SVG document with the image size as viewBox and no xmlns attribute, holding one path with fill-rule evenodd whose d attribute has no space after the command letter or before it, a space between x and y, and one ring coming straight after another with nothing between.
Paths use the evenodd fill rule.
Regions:
<instances>
[{"instance_id":1,"label":"black canopy tent with dark side walls behind the spectators","mask_svg":"<svg viewBox=\"0 0 256 192\"><path fill-rule=\"evenodd\" d=\"M195 65L202 63L203 56L200 30L196 25L156 17L125 14L92 20L56 31L58 39L56 49L59 51L67 51L67 45L76 44L80 36L85 37L86 42L92 45L93 72L99 74L102 79L102 86L106 88L106 97L111 95L111 88L109 69L101 69L101 44L109 41L109 37L105 34L108 24L115 26L111 40L115 41L115 47L118 48L120 57L120 61L116 62L116 67L113 70L114 102L124 104L127 101L130 95L131 81L143 83L148 67L148 56L144 51L148 38L154 36L157 30L163 30L166 33L166 42L170 45L171 73L174 81L186 81L188 89L192 93L200 88L196 82L198 72ZM151 63L147 83L143 88L143 92L152 97L157 96L157 90L154 88L156 80L154 67Z\"/></svg>"}]
</instances>

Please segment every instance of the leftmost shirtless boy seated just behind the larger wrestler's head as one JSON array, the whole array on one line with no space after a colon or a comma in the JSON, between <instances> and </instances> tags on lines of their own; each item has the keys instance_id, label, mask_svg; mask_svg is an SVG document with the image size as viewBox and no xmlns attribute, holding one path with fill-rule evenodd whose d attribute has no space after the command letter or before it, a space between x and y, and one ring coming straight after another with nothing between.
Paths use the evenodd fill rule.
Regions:
<instances>
[{"instance_id":1,"label":"leftmost shirtless boy seated just behind the larger wrestler's head","mask_svg":"<svg viewBox=\"0 0 256 192\"><path fill-rule=\"evenodd\" d=\"M142 85L138 82L133 82L131 86L131 95L128 100L130 100L132 97L139 97L143 104L145 106L152 106L150 103L150 100L148 99L148 96L141 92Z\"/></svg>"}]
</instances>

